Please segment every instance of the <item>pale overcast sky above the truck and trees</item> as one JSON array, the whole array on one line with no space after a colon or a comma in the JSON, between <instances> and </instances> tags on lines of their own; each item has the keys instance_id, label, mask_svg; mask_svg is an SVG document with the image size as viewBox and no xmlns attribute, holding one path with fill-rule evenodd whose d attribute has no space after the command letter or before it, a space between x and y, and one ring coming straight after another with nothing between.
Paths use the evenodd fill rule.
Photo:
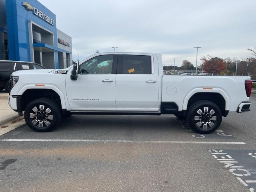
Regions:
<instances>
[{"instance_id":1,"label":"pale overcast sky above the truck and trees","mask_svg":"<svg viewBox=\"0 0 256 192\"><path fill-rule=\"evenodd\" d=\"M156 52L165 65L202 56L247 58L256 46L256 0L39 0L72 37L73 60L101 52ZM198 62L200 64L200 60Z\"/></svg>"}]
</instances>

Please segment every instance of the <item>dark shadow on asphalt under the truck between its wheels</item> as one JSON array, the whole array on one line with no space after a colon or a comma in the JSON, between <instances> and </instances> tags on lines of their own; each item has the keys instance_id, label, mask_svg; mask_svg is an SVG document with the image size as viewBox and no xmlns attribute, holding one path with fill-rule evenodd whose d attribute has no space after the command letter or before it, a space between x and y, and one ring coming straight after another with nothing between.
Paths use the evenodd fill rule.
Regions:
<instances>
[{"instance_id":1,"label":"dark shadow on asphalt under the truck between its wheels","mask_svg":"<svg viewBox=\"0 0 256 192\"><path fill-rule=\"evenodd\" d=\"M62 120L54 131L80 129L181 130L173 116L73 115Z\"/></svg>"}]
</instances>

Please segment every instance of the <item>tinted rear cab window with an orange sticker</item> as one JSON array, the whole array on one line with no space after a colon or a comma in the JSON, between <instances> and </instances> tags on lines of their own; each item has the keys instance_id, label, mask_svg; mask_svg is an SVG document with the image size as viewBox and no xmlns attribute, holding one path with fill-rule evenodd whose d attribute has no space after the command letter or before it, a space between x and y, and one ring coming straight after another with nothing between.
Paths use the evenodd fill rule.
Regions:
<instances>
[{"instance_id":1,"label":"tinted rear cab window with an orange sticker","mask_svg":"<svg viewBox=\"0 0 256 192\"><path fill-rule=\"evenodd\" d=\"M118 72L119 74L152 74L151 56L121 55L118 57Z\"/></svg>"}]
</instances>

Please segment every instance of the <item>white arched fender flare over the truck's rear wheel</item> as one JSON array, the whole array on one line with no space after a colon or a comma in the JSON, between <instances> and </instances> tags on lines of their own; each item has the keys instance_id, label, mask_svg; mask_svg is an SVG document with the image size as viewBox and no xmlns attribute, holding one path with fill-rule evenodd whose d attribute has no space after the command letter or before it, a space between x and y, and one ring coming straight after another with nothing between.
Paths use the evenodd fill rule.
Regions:
<instances>
[{"instance_id":1,"label":"white arched fender flare over the truck's rear wheel","mask_svg":"<svg viewBox=\"0 0 256 192\"><path fill-rule=\"evenodd\" d=\"M229 111L230 110L230 98L228 96L228 94L226 94L226 92L220 88L212 88L212 89L204 89L204 88L194 88L193 90L191 90L187 96L184 98L183 101L183 106L182 106L182 110L187 110L188 107L188 101L189 99L196 93L219 93L223 96L223 98L225 99L225 110Z\"/></svg>"}]
</instances>

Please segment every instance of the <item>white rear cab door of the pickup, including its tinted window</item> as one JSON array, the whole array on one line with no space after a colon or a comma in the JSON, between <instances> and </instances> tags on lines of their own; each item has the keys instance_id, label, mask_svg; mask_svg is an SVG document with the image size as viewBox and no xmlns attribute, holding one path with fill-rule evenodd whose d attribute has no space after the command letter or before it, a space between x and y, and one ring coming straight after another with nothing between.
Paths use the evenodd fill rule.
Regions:
<instances>
[{"instance_id":1,"label":"white rear cab door of the pickup, including its tinted window","mask_svg":"<svg viewBox=\"0 0 256 192\"><path fill-rule=\"evenodd\" d=\"M159 75L153 55L119 54L116 106L124 110L154 108L159 100Z\"/></svg>"}]
</instances>

